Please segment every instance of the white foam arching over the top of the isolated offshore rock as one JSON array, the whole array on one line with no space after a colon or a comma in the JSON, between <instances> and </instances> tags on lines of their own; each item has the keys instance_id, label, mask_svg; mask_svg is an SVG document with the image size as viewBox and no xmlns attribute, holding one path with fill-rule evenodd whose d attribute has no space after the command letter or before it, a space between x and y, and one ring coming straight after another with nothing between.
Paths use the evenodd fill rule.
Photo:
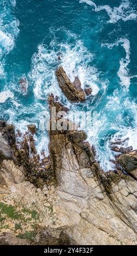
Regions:
<instances>
[{"instance_id":1,"label":"white foam arching over the top of the isolated offshore rock","mask_svg":"<svg viewBox=\"0 0 137 256\"><path fill-rule=\"evenodd\" d=\"M62 92L58 86L55 70L62 65L71 82L78 76L81 86L91 87L92 95L99 92L97 70L90 66L93 56L82 45L76 41L76 45L61 44L61 61L58 62L56 43L52 42L53 50L49 51L44 45L38 46L38 53L32 57L32 70L29 77L34 81L34 94L37 99L47 99L49 93L61 97Z\"/></svg>"}]
</instances>

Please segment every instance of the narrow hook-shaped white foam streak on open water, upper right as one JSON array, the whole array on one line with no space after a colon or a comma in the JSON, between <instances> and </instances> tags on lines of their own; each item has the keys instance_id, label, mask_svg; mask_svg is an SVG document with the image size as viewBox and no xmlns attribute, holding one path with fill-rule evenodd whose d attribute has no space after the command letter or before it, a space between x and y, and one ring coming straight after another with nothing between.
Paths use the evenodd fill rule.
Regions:
<instances>
[{"instance_id":1,"label":"narrow hook-shaped white foam streak on open water, upper right","mask_svg":"<svg viewBox=\"0 0 137 256\"><path fill-rule=\"evenodd\" d=\"M127 68L129 63L131 62L130 41L127 38L120 38L118 41L114 42L114 44L102 44L102 46L107 46L111 49L114 46L118 46L119 44L121 44L121 46L124 48L126 52L126 57L120 59L120 68L118 71L118 76L120 78L121 85L125 86L128 89L131 84L131 76L129 76L129 70Z\"/></svg>"}]
</instances>

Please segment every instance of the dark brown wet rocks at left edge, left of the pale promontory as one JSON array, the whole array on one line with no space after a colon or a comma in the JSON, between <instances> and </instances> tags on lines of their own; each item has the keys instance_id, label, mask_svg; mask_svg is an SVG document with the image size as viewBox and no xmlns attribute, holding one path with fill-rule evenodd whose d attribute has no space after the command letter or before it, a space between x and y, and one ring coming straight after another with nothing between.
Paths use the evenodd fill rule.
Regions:
<instances>
[{"instance_id":1,"label":"dark brown wet rocks at left edge, left of the pale promontory","mask_svg":"<svg viewBox=\"0 0 137 256\"><path fill-rule=\"evenodd\" d=\"M37 154L33 137L35 132L36 127L29 125L25 135L19 131L15 134L13 125L0 121L0 161L14 160L18 166L24 167L29 181L41 187L48 176L53 179L53 170L51 170L49 157L40 158Z\"/></svg>"}]
</instances>

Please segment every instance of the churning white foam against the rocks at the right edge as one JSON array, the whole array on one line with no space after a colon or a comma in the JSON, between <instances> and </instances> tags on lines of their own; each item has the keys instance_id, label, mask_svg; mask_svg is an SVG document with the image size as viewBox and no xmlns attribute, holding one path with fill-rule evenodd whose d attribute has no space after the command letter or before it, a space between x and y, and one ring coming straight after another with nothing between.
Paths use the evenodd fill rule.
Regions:
<instances>
[{"instance_id":1,"label":"churning white foam against the rocks at the right edge","mask_svg":"<svg viewBox=\"0 0 137 256\"><path fill-rule=\"evenodd\" d=\"M114 90L112 96L107 96L107 103L97 114L97 119L93 121L93 128L87 126L86 132L88 141L95 145L97 160L103 170L114 170L115 166L110 159L115 159L115 154L110 148L110 141L124 141L129 138L122 147L133 147L137 149L137 106L134 101L130 101L127 92L120 91L122 88ZM124 100L123 100L124 99ZM133 116L132 123L127 125L124 118L124 111L128 111L128 116ZM114 133L114 135L112 135ZM101 147L100 141L104 141ZM120 146L120 147L121 147Z\"/></svg>"}]
</instances>

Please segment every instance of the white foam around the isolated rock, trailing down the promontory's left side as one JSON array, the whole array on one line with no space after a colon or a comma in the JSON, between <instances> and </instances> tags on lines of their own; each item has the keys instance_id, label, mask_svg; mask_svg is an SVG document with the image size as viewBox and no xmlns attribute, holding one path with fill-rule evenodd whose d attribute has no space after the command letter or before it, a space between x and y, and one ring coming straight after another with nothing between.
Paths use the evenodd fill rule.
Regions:
<instances>
[{"instance_id":1,"label":"white foam around the isolated rock, trailing down the promontory's left side","mask_svg":"<svg viewBox=\"0 0 137 256\"><path fill-rule=\"evenodd\" d=\"M75 35L70 34L70 36L76 39ZM31 71L28 74L34 87L35 105L38 106L39 102L40 106L43 106L43 101L47 102L48 95L53 93L64 105L71 108L70 102L63 95L56 79L55 71L59 65L63 66L71 82L78 76L82 88L91 87L93 96L99 92L99 86L101 86L99 72L91 65L93 54L83 46L80 40L74 41L73 44L64 42L58 46L58 42L54 38L50 43L50 50L46 45L38 46L37 52L32 56ZM60 56L60 60L58 60L58 56ZM73 110L77 111L75 105ZM43 111L36 117L38 129L41 130L41 135L35 138L36 149L40 153L43 149L48 149L49 142L48 135L45 133L45 123L47 124L49 120L47 103L45 103Z\"/></svg>"}]
</instances>

